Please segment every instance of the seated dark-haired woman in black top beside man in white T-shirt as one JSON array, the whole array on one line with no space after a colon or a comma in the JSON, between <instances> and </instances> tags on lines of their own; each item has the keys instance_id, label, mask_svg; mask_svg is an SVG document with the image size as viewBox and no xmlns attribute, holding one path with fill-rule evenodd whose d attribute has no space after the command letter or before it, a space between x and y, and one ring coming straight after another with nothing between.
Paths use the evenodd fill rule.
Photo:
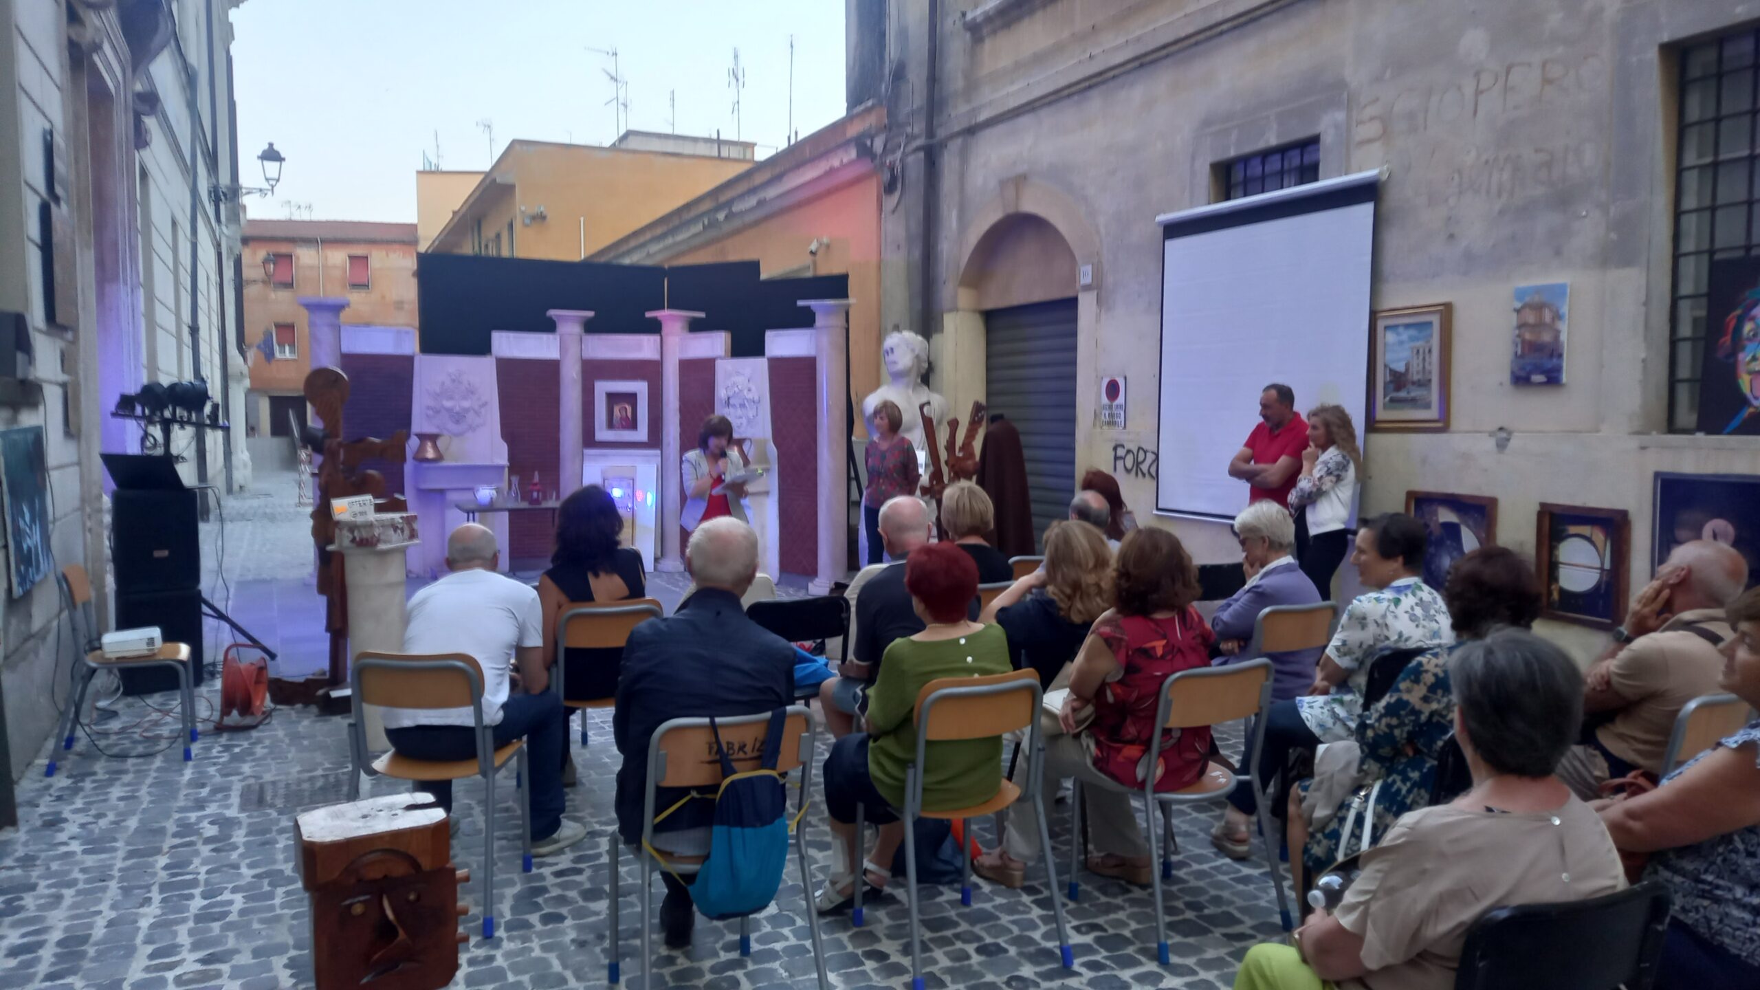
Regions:
<instances>
[{"instance_id":1,"label":"seated dark-haired woman in black top beside man in white T-shirt","mask_svg":"<svg viewBox=\"0 0 1760 990\"><path fill-rule=\"evenodd\" d=\"M556 550L539 578L544 606L544 669L556 664L556 620L576 604L639 599L648 594L642 555L623 541L623 516L611 495L588 484L556 507ZM572 648L561 657L567 701L618 692L618 648Z\"/></svg>"}]
</instances>

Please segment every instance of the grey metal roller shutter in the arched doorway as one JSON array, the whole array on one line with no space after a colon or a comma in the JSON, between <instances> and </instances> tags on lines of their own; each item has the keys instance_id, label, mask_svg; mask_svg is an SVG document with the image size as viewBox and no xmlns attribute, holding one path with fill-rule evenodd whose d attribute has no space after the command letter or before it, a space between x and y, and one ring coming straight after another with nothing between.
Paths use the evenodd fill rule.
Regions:
<instances>
[{"instance_id":1,"label":"grey metal roller shutter in the arched doorway","mask_svg":"<svg viewBox=\"0 0 1760 990\"><path fill-rule=\"evenodd\" d=\"M984 402L1021 432L1044 548L1045 527L1068 518L1075 497L1075 299L989 310L984 328Z\"/></svg>"}]
</instances>

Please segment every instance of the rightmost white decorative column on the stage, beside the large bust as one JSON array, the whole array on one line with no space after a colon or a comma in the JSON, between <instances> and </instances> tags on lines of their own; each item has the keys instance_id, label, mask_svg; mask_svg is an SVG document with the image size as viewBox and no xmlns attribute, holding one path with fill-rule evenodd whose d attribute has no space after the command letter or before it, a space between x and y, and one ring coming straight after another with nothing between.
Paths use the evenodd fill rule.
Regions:
<instances>
[{"instance_id":1,"label":"rightmost white decorative column on the stage, beside the large bust","mask_svg":"<svg viewBox=\"0 0 1760 990\"><path fill-rule=\"evenodd\" d=\"M806 585L815 595L831 594L850 560L850 432L845 414L848 380L848 299L801 299L813 310L813 412L818 419L818 574Z\"/></svg>"}]
</instances>

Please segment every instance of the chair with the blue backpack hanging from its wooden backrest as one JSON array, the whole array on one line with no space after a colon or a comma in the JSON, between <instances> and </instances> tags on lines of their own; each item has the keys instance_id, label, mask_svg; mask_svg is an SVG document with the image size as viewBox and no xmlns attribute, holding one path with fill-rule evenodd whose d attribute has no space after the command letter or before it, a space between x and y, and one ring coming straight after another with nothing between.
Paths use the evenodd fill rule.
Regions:
<instances>
[{"instance_id":1,"label":"chair with the blue backpack hanging from its wooden backrest","mask_svg":"<svg viewBox=\"0 0 1760 990\"><path fill-rule=\"evenodd\" d=\"M788 720L783 726L783 745L776 759L776 770L780 773L801 772L801 789L811 791L813 787L813 745L818 740L818 731L813 728L813 715L801 705L788 706ZM639 900L642 911L642 986L649 986L649 969L653 965L653 874L658 870L672 870L676 874L695 874L702 868L702 856L672 856L665 851L655 851L662 858L656 860L649 854L653 849L655 837L655 802L658 787L697 787L709 789L720 787L722 784L722 763L715 759L715 733L720 731L722 745L734 749L737 752L750 752L750 757L734 759L734 765L741 770L750 770L759 765L759 754L764 752L764 736L769 733L769 712L760 712L757 715L737 715L732 719L715 719L715 728L711 729L709 719L671 719L655 729L655 736L648 742L648 786L642 791L642 842L639 847L630 849L635 854L635 861L641 865L641 888ZM796 740L796 745L788 745L788 740ZM739 743L739 745L736 745ZM704 757L704 754L711 754ZM612 826L611 835L605 844L609 846L605 860L611 863L611 949L605 953L607 976L611 983L618 983L621 978L620 964L620 946L618 946L618 902L621 895L618 893L618 881L623 860L623 842L618 840L618 830ZM818 967L818 985L829 986L829 978L825 976L825 948L818 939L818 911L813 909L813 865L806 858L806 817L799 817L794 824L794 851L796 863L801 868L801 897L806 902L806 927L813 939L813 964ZM752 955L752 918L739 920L739 955Z\"/></svg>"}]
</instances>

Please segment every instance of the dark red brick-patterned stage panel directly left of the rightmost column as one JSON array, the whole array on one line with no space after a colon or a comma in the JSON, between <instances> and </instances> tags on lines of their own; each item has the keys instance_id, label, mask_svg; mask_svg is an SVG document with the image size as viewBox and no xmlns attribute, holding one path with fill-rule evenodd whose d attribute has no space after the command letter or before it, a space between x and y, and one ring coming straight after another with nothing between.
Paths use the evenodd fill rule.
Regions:
<instances>
[{"instance_id":1,"label":"dark red brick-patterned stage panel directly left of the rightmost column","mask_svg":"<svg viewBox=\"0 0 1760 990\"><path fill-rule=\"evenodd\" d=\"M781 569L787 574L818 571L818 416L813 358L771 358L771 442L776 474L771 490L780 499Z\"/></svg>"}]
</instances>

